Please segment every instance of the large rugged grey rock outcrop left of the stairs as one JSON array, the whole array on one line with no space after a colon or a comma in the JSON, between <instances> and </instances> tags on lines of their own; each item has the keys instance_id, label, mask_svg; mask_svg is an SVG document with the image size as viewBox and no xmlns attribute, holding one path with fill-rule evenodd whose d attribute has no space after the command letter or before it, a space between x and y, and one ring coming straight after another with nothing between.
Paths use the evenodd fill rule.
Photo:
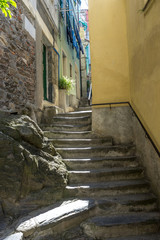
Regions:
<instances>
[{"instance_id":1,"label":"large rugged grey rock outcrop left of the stairs","mask_svg":"<svg viewBox=\"0 0 160 240\"><path fill-rule=\"evenodd\" d=\"M0 212L14 220L62 198L67 170L28 116L0 114Z\"/></svg>"}]
</instances>

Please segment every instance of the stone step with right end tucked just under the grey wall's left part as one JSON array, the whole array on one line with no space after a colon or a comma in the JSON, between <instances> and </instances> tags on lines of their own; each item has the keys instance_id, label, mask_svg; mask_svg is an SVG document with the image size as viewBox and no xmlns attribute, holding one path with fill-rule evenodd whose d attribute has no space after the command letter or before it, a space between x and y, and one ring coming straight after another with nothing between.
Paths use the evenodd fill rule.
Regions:
<instances>
[{"instance_id":1,"label":"stone step with right end tucked just under the grey wall's left part","mask_svg":"<svg viewBox=\"0 0 160 240\"><path fill-rule=\"evenodd\" d=\"M112 138L102 138L102 139L50 139L50 142L53 143L55 147L92 147L92 146L112 146Z\"/></svg>"}]
</instances>

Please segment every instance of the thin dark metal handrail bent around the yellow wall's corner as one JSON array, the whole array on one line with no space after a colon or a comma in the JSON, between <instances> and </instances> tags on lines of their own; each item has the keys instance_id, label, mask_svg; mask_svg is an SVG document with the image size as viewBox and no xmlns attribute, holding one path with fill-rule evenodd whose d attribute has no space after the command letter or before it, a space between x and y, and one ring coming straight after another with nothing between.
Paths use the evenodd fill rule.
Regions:
<instances>
[{"instance_id":1,"label":"thin dark metal handrail bent around the yellow wall's corner","mask_svg":"<svg viewBox=\"0 0 160 240\"><path fill-rule=\"evenodd\" d=\"M130 102L111 102L111 103L97 103L97 104L92 104L91 106L104 106L104 105L120 105L120 104L128 104L129 107L131 108L132 112L134 113L135 117L137 118L137 120L139 121L141 127L143 128L146 137L150 140L152 146L154 147L156 153L158 154L158 156L160 157L160 151L158 150L157 146L155 145L154 141L152 140L151 136L149 135L149 133L147 132L147 130L145 129L143 123L141 122L141 120L139 119L137 113L135 112L135 110L133 109L132 105L130 104Z\"/></svg>"}]
</instances>

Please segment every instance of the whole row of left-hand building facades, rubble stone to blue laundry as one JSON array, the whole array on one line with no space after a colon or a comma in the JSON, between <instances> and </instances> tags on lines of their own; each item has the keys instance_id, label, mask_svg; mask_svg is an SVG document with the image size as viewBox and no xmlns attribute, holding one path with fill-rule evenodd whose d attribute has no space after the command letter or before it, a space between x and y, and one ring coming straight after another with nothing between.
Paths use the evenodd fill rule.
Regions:
<instances>
[{"instance_id":1,"label":"whole row of left-hand building facades, rubble stone to blue laundry","mask_svg":"<svg viewBox=\"0 0 160 240\"><path fill-rule=\"evenodd\" d=\"M11 19L0 14L2 111L26 113L40 121L45 108L59 109L59 79L63 75L75 81L72 99L78 104L79 6L79 1L72 0L20 0L17 8L12 8ZM73 30L75 36L77 31L74 45L67 33L70 23L71 33ZM72 105L66 98L68 106Z\"/></svg>"}]
</instances>

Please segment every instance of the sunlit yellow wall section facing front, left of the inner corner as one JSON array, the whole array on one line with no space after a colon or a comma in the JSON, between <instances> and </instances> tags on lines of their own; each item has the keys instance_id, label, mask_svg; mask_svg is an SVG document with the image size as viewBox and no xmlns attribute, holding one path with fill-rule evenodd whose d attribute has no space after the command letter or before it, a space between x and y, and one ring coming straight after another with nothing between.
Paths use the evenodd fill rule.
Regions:
<instances>
[{"instance_id":1,"label":"sunlit yellow wall section facing front, left of the inner corner","mask_svg":"<svg viewBox=\"0 0 160 240\"><path fill-rule=\"evenodd\" d=\"M125 0L89 0L92 103L130 100Z\"/></svg>"}]
</instances>

